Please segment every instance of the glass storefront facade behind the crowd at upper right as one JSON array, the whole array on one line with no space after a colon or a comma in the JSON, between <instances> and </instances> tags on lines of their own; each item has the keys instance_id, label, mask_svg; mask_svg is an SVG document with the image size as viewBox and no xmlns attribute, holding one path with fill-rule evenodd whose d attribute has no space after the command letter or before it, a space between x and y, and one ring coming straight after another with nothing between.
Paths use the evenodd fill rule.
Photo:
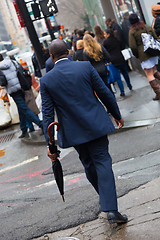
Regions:
<instances>
[{"instance_id":1,"label":"glass storefront facade behind the crowd at upper right","mask_svg":"<svg viewBox=\"0 0 160 240\"><path fill-rule=\"evenodd\" d=\"M121 25L125 13L137 13L141 20L152 25L153 17L151 8L156 4L155 0L83 0L90 24L99 24L106 27L104 21L107 18L116 19Z\"/></svg>"}]
</instances>

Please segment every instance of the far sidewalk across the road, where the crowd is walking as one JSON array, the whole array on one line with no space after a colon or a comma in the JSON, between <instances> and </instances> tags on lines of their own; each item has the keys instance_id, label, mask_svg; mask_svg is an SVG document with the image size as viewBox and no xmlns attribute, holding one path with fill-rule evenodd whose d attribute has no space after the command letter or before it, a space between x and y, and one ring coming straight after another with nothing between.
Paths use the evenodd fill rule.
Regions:
<instances>
[{"instance_id":1,"label":"far sidewalk across the road, where the crowd is walking","mask_svg":"<svg viewBox=\"0 0 160 240\"><path fill-rule=\"evenodd\" d=\"M130 79L133 85L132 91L127 88L122 77L125 97L120 97L120 91L116 85L117 93L115 96L125 122L123 129L160 122L160 101L152 100L155 93L151 89L147 78L137 72L131 72ZM24 138L22 141L28 144L45 144L45 138L40 135L38 130L31 133L29 139Z\"/></svg>"}]
</instances>

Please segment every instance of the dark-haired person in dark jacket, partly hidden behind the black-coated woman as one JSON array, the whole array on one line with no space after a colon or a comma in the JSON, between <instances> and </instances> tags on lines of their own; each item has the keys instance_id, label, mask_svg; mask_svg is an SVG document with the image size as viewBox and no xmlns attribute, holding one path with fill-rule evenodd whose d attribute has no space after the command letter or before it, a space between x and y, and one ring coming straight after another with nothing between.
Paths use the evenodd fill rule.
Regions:
<instances>
[{"instance_id":1,"label":"dark-haired person in dark jacket, partly hidden behind the black-coated woman","mask_svg":"<svg viewBox=\"0 0 160 240\"><path fill-rule=\"evenodd\" d=\"M106 20L106 26L107 26L107 29L113 31L114 36L121 43L121 50L123 50L125 48L125 41L123 38L123 31L122 31L121 27L118 25L118 23L115 22L115 20L112 20L111 18L108 18Z\"/></svg>"}]
</instances>

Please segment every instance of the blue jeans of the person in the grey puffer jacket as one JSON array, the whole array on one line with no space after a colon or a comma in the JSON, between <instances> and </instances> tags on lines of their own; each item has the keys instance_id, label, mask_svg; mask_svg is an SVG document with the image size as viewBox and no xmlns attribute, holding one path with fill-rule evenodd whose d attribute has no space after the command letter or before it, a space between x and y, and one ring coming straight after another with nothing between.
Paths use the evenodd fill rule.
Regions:
<instances>
[{"instance_id":1,"label":"blue jeans of the person in the grey puffer jacket","mask_svg":"<svg viewBox=\"0 0 160 240\"><path fill-rule=\"evenodd\" d=\"M34 122L40 128L43 127L42 121L34 114L29 107L27 106L24 95L21 91L18 91L12 94L12 97L17 105L19 118L20 118L20 128L22 132L27 131L27 124L26 122Z\"/></svg>"}]
</instances>

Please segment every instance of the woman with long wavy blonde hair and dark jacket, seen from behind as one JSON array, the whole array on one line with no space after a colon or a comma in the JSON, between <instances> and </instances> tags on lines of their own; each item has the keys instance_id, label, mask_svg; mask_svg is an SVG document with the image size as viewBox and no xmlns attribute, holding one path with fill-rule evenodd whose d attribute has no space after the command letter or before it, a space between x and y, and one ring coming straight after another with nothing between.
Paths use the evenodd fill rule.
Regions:
<instances>
[{"instance_id":1,"label":"woman with long wavy blonde hair and dark jacket, seen from behind","mask_svg":"<svg viewBox=\"0 0 160 240\"><path fill-rule=\"evenodd\" d=\"M101 46L90 34L83 37L84 52L83 60L90 61L92 66L97 70L98 74L111 90L111 86L107 83L107 69L105 66L106 61L110 62L110 55L107 50Z\"/></svg>"}]
</instances>

